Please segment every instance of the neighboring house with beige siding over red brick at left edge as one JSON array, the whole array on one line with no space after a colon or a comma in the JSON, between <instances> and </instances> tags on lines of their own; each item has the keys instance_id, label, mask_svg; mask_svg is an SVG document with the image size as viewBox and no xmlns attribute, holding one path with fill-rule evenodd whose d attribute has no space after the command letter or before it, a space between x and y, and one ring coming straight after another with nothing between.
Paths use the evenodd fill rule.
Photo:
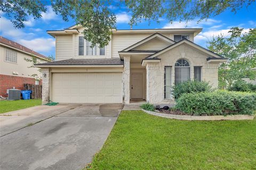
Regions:
<instances>
[{"instance_id":1,"label":"neighboring house with beige siding over red brick at left edge","mask_svg":"<svg viewBox=\"0 0 256 170\"><path fill-rule=\"evenodd\" d=\"M33 63L24 60L31 59L31 55L34 55L38 62L51 61L42 54L0 36L0 96L6 97L7 89L13 87L22 90L24 83L39 83L31 77L33 74L40 74L38 68L28 68Z\"/></svg>"}]
</instances>

